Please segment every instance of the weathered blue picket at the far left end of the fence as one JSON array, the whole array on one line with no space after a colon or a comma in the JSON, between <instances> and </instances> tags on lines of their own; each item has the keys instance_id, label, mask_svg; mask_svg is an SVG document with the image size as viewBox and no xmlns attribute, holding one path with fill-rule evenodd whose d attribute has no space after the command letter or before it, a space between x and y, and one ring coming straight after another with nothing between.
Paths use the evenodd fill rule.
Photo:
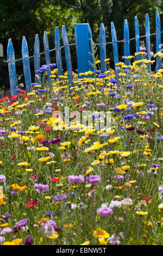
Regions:
<instances>
[{"instance_id":1,"label":"weathered blue picket at the far left end of the fence","mask_svg":"<svg viewBox=\"0 0 163 256\"><path fill-rule=\"evenodd\" d=\"M11 39L9 39L8 41L7 56L8 56L10 90L11 90L11 96L13 96L17 94L15 92L17 81L16 81L15 52L14 52L14 47L12 45Z\"/></svg>"}]
</instances>

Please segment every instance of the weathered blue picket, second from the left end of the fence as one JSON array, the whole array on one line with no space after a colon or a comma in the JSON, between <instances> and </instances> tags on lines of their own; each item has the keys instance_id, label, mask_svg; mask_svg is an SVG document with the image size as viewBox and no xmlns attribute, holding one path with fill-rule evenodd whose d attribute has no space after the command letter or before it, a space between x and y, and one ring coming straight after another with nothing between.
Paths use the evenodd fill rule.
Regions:
<instances>
[{"instance_id":1,"label":"weathered blue picket, second from the left end of the fence","mask_svg":"<svg viewBox=\"0 0 163 256\"><path fill-rule=\"evenodd\" d=\"M29 93L29 92L32 92L32 86L31 86L31 76L30 76L28 45L27 45L25 36L23 36L23 39L22 39L22 59L23 59L23 71L24 71L24 78L26 83L26 90L27 90L27 93Z\"/></svg>"}]
</instances>

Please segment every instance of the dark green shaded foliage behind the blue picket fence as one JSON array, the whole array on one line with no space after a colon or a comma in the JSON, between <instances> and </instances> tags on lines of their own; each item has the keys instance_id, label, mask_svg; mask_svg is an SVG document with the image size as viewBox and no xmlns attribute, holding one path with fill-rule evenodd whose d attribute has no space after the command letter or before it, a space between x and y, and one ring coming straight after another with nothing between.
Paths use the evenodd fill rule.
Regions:
<instances>
[{"instance_id":1,"label":"dark green shaded foliage behind the blue picket fence","mask_svg":"<svg viewBox=\"0 0 163 256\"><path fill-rule=\"evenodd\" d=\"M106 31L106 42L111 41L110 22L114 21L117 40L123 39L123 22L128 20L130 38L135 36L134 17L137 16L140 35L145 35L145 16L149 14L151 33L155 32L155 10L159 10L161 27L163 22L162 0L0 0L0 43L3 45L4 56L0 57L0 84L9 85L8 67L3 60L7 59L8 39L12 39L16 59L21 58L22 36L25 35L29 55L33 55L35 34L39 34L40 51L43 51L43 32L47 31L49 48L54 48L55 27L67 28L68 40L74 43L74 23L89 23L92 29L93 41L99 42L100 23L103 22ZM153 52L155 53L155 36L151 36ZM62 45L62 39L61 39ZM118 51L123 55L123 43L118 44ZM130 54L135 52L135 41L130 41ZM111 59L113 67L112 46L106 46L107 58ZM63 67L66 70L64 49L62 49ZM73 69L77 68L76 47L71 47ZM55 52L51 52L51 62L55 62ZM41 58L45 64L45 58ZM31 69L34 69L33 59L30 59ZM16 71L22 74L22 62L16 63Z\"/></svg>"}]
</instances>

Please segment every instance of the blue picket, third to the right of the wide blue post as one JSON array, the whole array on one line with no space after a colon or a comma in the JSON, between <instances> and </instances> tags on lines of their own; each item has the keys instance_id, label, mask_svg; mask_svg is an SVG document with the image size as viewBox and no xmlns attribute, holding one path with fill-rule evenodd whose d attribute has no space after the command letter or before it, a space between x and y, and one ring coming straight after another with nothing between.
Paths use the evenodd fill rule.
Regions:
<instances>
[{"instance_id":1,"label":"blue picket, third to the right of the wide blue post","mask_svg":"<svg viewBox=\"0 0 163 256\"><path fill-rule=\"evenodd\" d=\"M129 42L129 27L127 20L124 20L124 56L130 55L130 42ZM124 59L126 65L130 65L129 59Z\"/></svg>"}]
</instances>

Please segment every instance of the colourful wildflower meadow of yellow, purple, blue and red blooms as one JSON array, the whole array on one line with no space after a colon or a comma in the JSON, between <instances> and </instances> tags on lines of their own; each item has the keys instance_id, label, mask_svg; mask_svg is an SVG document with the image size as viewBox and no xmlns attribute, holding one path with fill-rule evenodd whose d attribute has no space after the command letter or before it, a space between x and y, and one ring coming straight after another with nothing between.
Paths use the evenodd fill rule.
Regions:
<instances>
[{"instance_id":1,"label":"colourful wildflower meadow of yellow, purple, blue and red blooms","mask_svg":"<svg viewBox=\"0 0 163 256\"><path fill-rule=\"evenodd\" d=\"M1 245L163 243L162 53L145 53L71 84L43 65L0 99Z\"/></svg>"}]
</instances>

